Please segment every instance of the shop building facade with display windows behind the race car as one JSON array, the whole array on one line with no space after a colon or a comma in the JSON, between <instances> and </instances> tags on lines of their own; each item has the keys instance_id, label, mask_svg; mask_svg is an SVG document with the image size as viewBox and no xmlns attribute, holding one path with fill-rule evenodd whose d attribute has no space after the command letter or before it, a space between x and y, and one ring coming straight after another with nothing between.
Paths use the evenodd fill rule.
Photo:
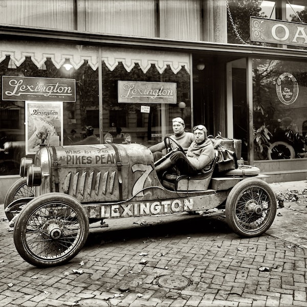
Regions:
<instances>
[{"instance_id":1,"label":"shop building facade with display windows behind the race car","mask_svg":"<svg viewBox=\"0 0 307 307\"><path fill-rule=\"evenodd\" d=\"M242 139L245 162L271 182L306 179L305 24L299 47L284 45L283 32L280 43L242 37L261 18L302 14L303 1L265 2L267 13L260 0L242 3L247 21L237 0L0 1L2 196L41 132L66 145L91 125L103 143L120 127L150 146L177 116L187 130L203 123Z\"/></svg>"}]
</instances>

